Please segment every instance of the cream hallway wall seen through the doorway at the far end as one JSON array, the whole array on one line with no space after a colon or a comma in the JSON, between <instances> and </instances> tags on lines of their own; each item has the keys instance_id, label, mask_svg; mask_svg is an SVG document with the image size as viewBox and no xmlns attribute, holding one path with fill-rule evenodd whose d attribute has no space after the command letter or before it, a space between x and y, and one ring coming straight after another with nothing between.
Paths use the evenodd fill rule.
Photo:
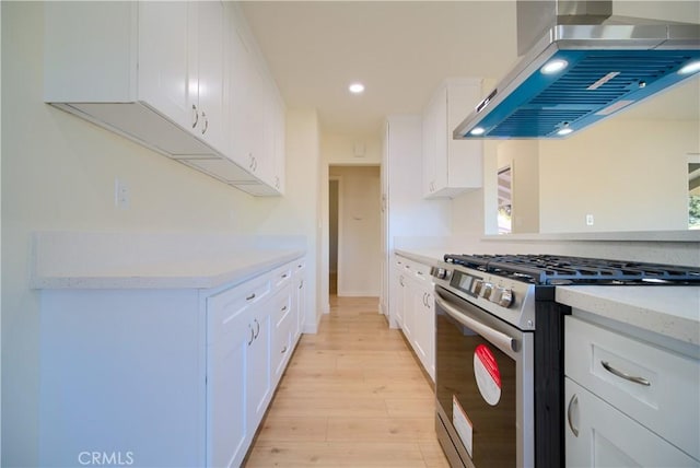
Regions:
<instances>
[{"instance_id":1,"label":"cream hallway wall seen through the doorway at the far end","mask_svg":"<svg viewBox=\"0 0 700 468\"><path fill-rule=\"evenodd\" d=\"M378 296L381 210L378 166L330 166L340 179L338 295Z\"/></svg>"}]
</instances>

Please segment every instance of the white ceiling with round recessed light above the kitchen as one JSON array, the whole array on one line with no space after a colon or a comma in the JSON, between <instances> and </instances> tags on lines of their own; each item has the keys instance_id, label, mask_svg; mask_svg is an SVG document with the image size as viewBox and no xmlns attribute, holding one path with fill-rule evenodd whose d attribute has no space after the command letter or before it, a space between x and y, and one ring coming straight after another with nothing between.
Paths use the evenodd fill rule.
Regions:
<instances>
[{"instance_id":1,"label":"white ceiling with round recessed light above the kitchen","mask_svg":"<svg viewBox=\"0 0 700 468\"><path fill-rule=\"evenodd\" d=\"M386 115L419 113L445 78L495 84L517 61L513 0L247 1L243 9L287 106L316 108L323 131L358 139L376 137ZM353 81L364 94L348 92ZM660 118L697 119L693 81L622 115L660 108Z\"/></svg>"}]
</instances>

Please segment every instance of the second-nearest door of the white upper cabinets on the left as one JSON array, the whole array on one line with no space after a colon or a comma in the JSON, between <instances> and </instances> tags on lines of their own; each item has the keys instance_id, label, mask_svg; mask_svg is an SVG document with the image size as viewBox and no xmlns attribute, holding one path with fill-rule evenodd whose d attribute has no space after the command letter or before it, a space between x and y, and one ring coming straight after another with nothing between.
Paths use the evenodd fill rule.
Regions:
<instances>
[{"instance_id":1,"label":"second-nearest door of the white upper cabinets on the left","mask_svg":"<svg viewBox=\"0 0 700 468\"><path fill-rule=\"evenodd\" d=\"M197 107L195 133L221 152L224 138L224 11L221 1L197 5Z\"/></svg>"}]
</instances>

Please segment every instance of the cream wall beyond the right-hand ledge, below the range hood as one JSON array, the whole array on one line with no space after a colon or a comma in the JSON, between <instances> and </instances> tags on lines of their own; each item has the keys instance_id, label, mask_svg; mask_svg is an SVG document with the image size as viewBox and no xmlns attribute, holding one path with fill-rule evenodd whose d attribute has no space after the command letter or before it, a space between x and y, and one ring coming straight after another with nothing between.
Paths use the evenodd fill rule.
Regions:
<instances>
[{"instance_id":1,"label":"cream wall beyond the right-hand ledge, below the range hood","mask_svg":"<svg viewBox=\"0 0 700 468\"><path fill-rule=\"evenodd\" d=\"M697 152L697 121L617 120L540 141L540 232L687 230Z\"/></svg>"}]
</instances>

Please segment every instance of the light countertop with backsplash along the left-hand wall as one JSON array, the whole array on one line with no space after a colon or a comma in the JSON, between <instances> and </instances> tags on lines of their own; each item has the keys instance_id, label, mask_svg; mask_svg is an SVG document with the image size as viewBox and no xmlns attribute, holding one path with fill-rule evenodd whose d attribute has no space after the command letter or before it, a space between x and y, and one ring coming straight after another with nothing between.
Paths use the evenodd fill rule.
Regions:
<instances>
[{"instance_id":1,"label":"light countertop with backsplash along the left-hand wall","mask_svg":"<svg viewBox=\"0 0 700 468\"><path fill-rule=\"evenodd\" d=\"M32 289L212 289L235 285L304 256L229 235L42 233Z\"/></svg>"}]
</instances>

